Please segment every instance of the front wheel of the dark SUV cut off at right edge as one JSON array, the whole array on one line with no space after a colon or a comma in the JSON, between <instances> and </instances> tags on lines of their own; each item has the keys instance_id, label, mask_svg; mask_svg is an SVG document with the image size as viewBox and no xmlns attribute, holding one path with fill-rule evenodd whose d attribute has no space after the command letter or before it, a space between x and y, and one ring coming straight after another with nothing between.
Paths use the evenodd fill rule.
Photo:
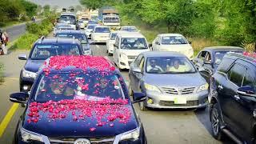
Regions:
<instances>
[{"instance_id":1,"label":"front wheel of the dark SUV cut off at right edge","mask_svg":"<svg viewBox=\"0 0 256 144\"><path fill-rule=\"evenodd\" d=\"M214 138L221 140L223 133L221 130L221 120L217 103L214 104L212 110L210 111L210 122Z\"/></svg>"}]
</instances>

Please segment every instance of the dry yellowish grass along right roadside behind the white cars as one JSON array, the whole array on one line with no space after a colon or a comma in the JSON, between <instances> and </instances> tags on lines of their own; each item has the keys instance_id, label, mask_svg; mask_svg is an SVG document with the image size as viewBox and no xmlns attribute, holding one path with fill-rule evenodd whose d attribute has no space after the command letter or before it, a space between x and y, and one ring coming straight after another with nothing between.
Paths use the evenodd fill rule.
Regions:
<instances>
[{"instance_id":1,"label":"dry yellowish grass along right roadside behind the white cars","mask_svg":"<svg viewBox=\"0 0 256 144\"><path fill-rule=\"evenodd\" d=\"M159 23L156 26L146 25L145 22L142 22L138 18L130 19L124 15L122 18L122 26L127 26L130 23L130 26L136 26L138 30L146 37L147 42L151 43L154 41L154 38L158 34L168 33L168 29L166 26ZM190 42L192 42L191 46L194 49L194 56L198 54L200 50L204 47L208 46L220 46L219 42L211 40L210 38L187 38Z\"/></svg>"}]
</instances>

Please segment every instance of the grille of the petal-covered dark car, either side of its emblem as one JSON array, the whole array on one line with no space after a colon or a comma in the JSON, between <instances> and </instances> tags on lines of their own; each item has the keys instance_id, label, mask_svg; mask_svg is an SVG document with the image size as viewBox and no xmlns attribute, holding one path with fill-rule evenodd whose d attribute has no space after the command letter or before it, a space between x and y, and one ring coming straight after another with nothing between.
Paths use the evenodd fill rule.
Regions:
<instances>
[{"instance_id":1,"label":"grille of the petal-covered dark car, either side of its emblem","mask_svg":"<svg viewBox=\"0 0 256 144\"><path fill-rule=\"evenodd\" d=\"M78 138L49 138L51 144L74 144ZM111 138L87 138L90 140L91 144L112 144L114 142L114 137Z\"/></svg>"}]
</instances>

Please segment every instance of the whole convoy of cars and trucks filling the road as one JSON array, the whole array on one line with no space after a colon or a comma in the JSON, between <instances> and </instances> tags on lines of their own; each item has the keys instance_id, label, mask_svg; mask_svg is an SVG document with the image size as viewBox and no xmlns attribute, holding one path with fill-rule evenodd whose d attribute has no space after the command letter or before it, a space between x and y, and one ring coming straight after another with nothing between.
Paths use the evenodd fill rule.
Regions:
<instances>
[{"instance_id":1,"label":"whole convoy of cars and trucks filling the road","mask_svg":"<svg viewBox=\"0 0 256 144\"><path fill-rule=\"evenodd\" d=\"M247 53L242 47L213 46L194 56L191 42L182 34L158 34L151 44L135 26L122 26L120 30L104 26L104 22L119 22L117 11L100 10L100 14L103 26L97 18L77 21L73 13L63 13L58 20L61 23L53 29L54 38L39 38L28 57L19 55L19 59L26 60L20 74L21 92L10 94L10 101L27 104L27 108L18 122L14 143L146 143L142 122L132 106L136 102L140 110L205 110L209 106L214 138L221 140L227 134L238 143L256 141L256 54ZM113 55L113 63L91 56L90 43L98 42L106 43L106 52ZM65 66L62 61L66 62ZM51 66L51 62L59 62L60 66ZM83 70L85 65L86 70ZM110 70L106 70L108 68ZM118 69L129 69L129 84L124 82ZM98 88L101 85L104 90ZM54 95L56 89L58 92ZM64 93L65 90L68 91ZM81 98L82 102L93 103L85 107L74 106L77 109L72 114L65 113L67 115L45 115L37 119L37 114L42 113L38 110L31 113L31 107L56 106L54 102L59 104L73 99L75 102L70 105L74 105ZM98 102L101 107L101 102L105 106L112 101L118 102L114 106L126 107L122 110L128 110L131 121L120 124L125 116L115 113L106 115L119 114L119 121L110 118L110 123L102 123L95 121L94 118L98 120L96 112L96 115L89 114L91 119L82 119L86 115L81 116L81 110L86 107L93 110L91 107L95 108ZM45 109L42 107L42 110ZM49 118L62 120L51 125ZM83 121L70 124L79 118ZM31 122L36 124L31 126ZM88 123L96 126L90 127ZM61 128L63 131L58 130ZM98 130L95 132L95 129ZM86 139L78 138L83 136Z\"/></svg>"}]
</instances>

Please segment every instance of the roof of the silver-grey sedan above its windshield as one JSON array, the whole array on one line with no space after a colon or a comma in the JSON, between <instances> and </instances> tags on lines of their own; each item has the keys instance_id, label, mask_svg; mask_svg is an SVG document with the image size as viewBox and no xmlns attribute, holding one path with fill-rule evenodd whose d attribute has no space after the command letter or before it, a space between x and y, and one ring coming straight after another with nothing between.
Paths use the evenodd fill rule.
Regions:
<instances>
[{"instance_id":1,"label":"roof of the silver-grey sedan above its windshield","mask_svg":"<svg viewBox=\"0 0 256 144\"><path fill-rule=\"evenodd\" d=\"M186 57L175 51L147 51L142 53L145 57Z\"/></svg>"}]
</instances>

